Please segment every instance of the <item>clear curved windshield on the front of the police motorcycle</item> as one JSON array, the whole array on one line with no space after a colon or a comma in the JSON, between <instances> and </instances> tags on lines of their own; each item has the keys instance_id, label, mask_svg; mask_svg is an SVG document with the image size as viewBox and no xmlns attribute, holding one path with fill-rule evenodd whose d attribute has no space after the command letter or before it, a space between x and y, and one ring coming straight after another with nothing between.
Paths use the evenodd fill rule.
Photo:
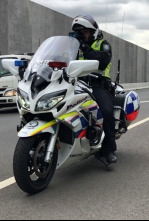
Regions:
<instances>
[{"instance_id":1,"label":"clear curved windshield on the front of the police motorcycle","mask_svg":"<svg viewBox=\"0 0 149 221\"><path fill-rule=\"evenodd\" d=\"M79 46L79 41L73 37L56 36L48 38L35 53L24 73L24 79L28 80L41 67L48 67L51 61L65 62L68 68L69 63L77 59Z\"/></svg>"}]
</instances>

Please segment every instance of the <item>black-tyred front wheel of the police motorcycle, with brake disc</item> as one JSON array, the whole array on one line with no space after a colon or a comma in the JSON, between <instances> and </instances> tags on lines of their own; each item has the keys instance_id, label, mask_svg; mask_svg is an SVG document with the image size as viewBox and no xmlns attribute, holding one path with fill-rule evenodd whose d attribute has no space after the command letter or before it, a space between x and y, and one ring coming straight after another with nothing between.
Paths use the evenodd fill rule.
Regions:
<instances>
[{"instance_id":1,"label":"black-tyred front wheel of the police motorcycle, with brake disc","mask_svg":"<svg viewBox=\"0 0 149 221\"><path fill-rule=\"evenodd\" d=\"M44 161L50 135L42 134L29 138L20 138L14 153L14 177L20 189L35 194L45 189L56 170L58 151L49 163Z\"/></svg>"}]
</instances>

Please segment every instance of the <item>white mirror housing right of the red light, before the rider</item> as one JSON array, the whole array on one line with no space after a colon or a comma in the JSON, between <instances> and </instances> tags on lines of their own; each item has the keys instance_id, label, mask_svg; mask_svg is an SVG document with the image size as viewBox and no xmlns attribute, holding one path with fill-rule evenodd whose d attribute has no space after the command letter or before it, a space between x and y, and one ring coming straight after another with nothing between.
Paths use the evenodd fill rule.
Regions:
<instances>
[{"instance_id":1,"label":"white mirror housing right of the red light, before the rider","mask_svg":"<svg viewBox=\"0 0 149 221\"><path fill-rule=\"evenodd\" d=\"M70 78L84 77L92 72L98 71L99 61L97 60L76 60L71 61L68 68Z\"/></svg>"}]
</instances>

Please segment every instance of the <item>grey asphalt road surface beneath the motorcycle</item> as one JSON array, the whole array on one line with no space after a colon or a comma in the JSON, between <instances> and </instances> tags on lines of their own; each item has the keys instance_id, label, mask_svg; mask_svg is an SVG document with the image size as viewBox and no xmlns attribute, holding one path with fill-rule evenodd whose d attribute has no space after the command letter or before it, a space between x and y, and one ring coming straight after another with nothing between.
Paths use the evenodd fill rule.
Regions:
<instances>
[{"instance_id":1,"label":"grey asphalt road surface beneath the motorcycle","mask_svg":"<svg viewBox=\"0 0 149 221\"><path fill-rule=\"evenodd\" d=\"M149 89L138 93L141 110L135 123L149 118ZM18 122L16 111L0 113L0 186L13 177ZM118 163L110 171L91 157L57 171L37 195L25 194L16 183L0 189L0 219L148 220L149 121L129 130L117 145Z\"/></svg>"}]
</instances>

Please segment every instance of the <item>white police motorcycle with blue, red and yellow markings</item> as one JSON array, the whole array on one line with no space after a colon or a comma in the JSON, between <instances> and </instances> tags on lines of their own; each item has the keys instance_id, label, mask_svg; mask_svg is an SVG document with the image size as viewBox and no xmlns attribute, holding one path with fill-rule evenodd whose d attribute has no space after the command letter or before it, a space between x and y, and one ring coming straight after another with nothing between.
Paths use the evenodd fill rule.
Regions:
<instances>
[{"instance_id":1,"label":"white police motorcycle with blue, red and yellow markings","mask_svg":"<svg viewBox=\"0 0 149 221\"><path fill-rule=\"evenodd\" d=\"M103 117L91 88L80 77L98 72L97 60L77 60L80 43L68 36L47 39L31 62L3 60L17 75L17 106L21 118L13 160L18 186L29 194L45 189L56 170L95 155L105 134ZM92 74L93 73L93 74ZM96 75L94 77L97 77ZM114 115L116 138L139 113L136 92L117 83Z\"/></svg>"}]
</instances>

